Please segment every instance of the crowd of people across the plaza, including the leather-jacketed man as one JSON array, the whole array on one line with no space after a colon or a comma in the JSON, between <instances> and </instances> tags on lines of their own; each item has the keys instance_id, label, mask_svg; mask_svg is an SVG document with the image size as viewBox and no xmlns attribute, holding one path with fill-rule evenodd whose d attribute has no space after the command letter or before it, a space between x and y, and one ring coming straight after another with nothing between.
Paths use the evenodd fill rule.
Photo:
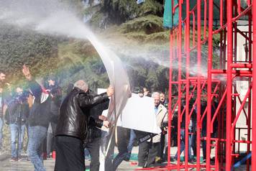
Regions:
<instances>
[{"instance_id":1,"label":"crowd of people across the plaza, including the leather-jacketed man","mask_svg":"<svg viewBox=\"0 0 256 171\"><path fill-rule=\"evenodd\" d=\"M154 100L156 124L162 131L160 134L150 134L115 126L102 114L109 108L109 97L114 95L111 86L106 89L106 93L96 94L89 89L85 80L78 80L70 83L64 97L62 88L58 86L58 78L54 75L49 75L46 84L42 85L32 77L26 65L23 66L22 73L27 80L28 91L24 91L22 86L16 86L12 91L5 80L5 73L0 71L0 149L2 129L6 123L11 133L11 161L21 159L26 133L28 160L39 171L45 170L43 159L55 152L56 171L84 171L85 149L91 156L90 170L116 170L122 161L130 160L135 144L139 145L139 167L152 167L167 160L168 102L165 100L165 93L150 93L147 88L140 88L135 92L140 98L148 96ZM172 120L175 122L175 116ZM184 121L182 119L180 124L180 152L176 153L173 160L177 160L178 154L185 149L185 135L182 131L185 128ZM196 139L195 121L192 115L189 125L189 162L194 162L191 149L196 154L196 145L193 143ZM102 126L114 131L116 135L111 137L105 134L99 129ZM177 134L172 134L172 137L177 139ZM107 147L109 142L113 143ZM173 145L176 143L172 142ZM119 153L114 157L115 146ZM109 151L102 164L101 153L106 148Z\"/></svg>"}]
</instances>

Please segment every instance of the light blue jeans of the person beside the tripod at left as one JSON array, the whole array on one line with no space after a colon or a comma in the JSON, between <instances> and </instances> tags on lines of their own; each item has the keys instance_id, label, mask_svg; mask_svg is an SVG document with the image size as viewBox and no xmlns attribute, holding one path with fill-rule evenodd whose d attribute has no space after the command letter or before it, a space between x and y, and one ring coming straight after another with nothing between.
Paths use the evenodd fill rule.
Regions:
<instances>
[{"instance_id":1,"label":"light blue jeans of the person beside the tripod at left","mask_svg":"<svg viewBox=\"0 0 256 171\"><path fill-rule=\"evenodd\" d=\"M22 144L24 138L25 125L23 124L20 128L18 124L10 124L11 131L11 149L12 149L12 157L17 158L17 139L18 139L18 131L19 131L19 156L22 154ZM20 130L19 130L20 129Z\"/></svg>"}]
</instances>

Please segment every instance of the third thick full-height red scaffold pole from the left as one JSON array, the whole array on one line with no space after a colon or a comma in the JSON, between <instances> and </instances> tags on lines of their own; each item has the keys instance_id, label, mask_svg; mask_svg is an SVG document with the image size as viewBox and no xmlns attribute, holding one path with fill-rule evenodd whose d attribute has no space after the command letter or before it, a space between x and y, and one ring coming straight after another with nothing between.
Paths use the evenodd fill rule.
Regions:
<instances>
[{"instance_id":1,"label":"third thick full-height red scaffold pole from the left","mask_svg":"<svg viewBox=\"0 0 256 171\"><path fill-rule=\"evenodd\" d=\"M211 125L211 69L213 52L213 0L209 0L208 73L207 73L207 125ZM211 129L206 129L206 170L211 170Z\"/></svg>"}]
</instances>

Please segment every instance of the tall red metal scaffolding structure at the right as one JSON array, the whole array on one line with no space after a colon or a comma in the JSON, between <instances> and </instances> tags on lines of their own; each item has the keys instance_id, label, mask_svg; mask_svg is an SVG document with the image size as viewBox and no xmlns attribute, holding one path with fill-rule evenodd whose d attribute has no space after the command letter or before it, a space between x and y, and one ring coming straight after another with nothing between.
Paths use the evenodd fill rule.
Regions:
<instances>
[{"instance_id":1,"label":"tall red metal scaffolding structure at the right","mask_svg":"<svg viewBox=\"0 0 256 171\"><path fill-rule=\"evenodd\" d=\"M252 61L256 61L256 43L252 42L256 40L256 24L252 24L256 21L256 10L253 9L256 1L251 0L195 0L193 4L189 0L178 0L175 4L172 0L172 13L178 14L178 25L170 30L168 136L172 139L172 119L178 108L178 152L180 131L185 131L185 161L180 161L180 155L177 162L170 161L173 149L170 140L168 164L146 170L233 170L234 162L242 154L241 144L246 144L246 154L252 152L252 165L247 160L247 170L256 170L256 119L253 116L256 105L252 105L256 104L256 93L253 93L256 92L256 72L252 72L256 70L252 65ZM239 27L241 20L245 29ZM238 35L243 38L238 39ZM244 48L238 50L241 41ZM238 51L244 52L242 59L237 57ZM196 75L191 72L195 66ZM243 95L239 91L241 81L247 85ZM206 108L201 107L203 101ZM192 164L188 161L191 136L188 125L193 111L196 111L196 163ZM185 130L180 128L183 115ZM242 116L244 127L237 126ZM202 134L204 119L206 134ZM212 134L214 122L218 123L216 136ZM247 131L246 139L240 139L242 130ZM200 161L202 141L206 141L206 162Z\"/></svg>"}]
</instances>

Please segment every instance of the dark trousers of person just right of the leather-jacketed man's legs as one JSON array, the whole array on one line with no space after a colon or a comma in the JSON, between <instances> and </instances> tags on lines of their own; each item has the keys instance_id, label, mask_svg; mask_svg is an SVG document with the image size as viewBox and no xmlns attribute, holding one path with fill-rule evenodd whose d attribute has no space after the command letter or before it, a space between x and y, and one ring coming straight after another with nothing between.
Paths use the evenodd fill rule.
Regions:
<instances>
[{"instance_id":1,"label":"dark trousers of person just right of the leather-jacketed man's legs","mask_svg":"<svg viewBox=\"0 0 256 171\"><path fill-rule=\"evenodd\" d=\"M91 171L99 171L99 145L101 142L101 138L93 139L92 142L86 144L86 149L90 152L91 155L91 163L90 170Z\"/></svg>"}]
</instances>

